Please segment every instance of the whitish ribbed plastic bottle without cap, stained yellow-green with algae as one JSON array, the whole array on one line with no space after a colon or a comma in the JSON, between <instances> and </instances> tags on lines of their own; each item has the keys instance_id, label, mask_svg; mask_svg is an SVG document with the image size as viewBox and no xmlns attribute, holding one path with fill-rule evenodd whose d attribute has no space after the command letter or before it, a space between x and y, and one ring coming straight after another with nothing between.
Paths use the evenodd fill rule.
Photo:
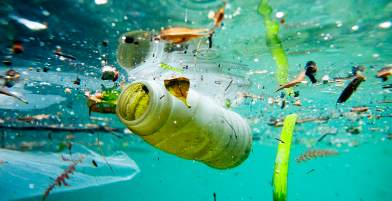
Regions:
<instances>
[{"instance_id":1,"label":"whitish ribbed plastic bottle without cap, stained yellow-green with algae","mask_svg":"<svg viewBox=\"0 0 392 201\"><path fill-rule=\"evenodd\" d=\"M192 89L187 102L191 108L162 82L138 80L122 90L116 114L145 142L180 158L216 169L236 167L248 158L251 130L240 115Z\"/></svg>"}]
</instances>

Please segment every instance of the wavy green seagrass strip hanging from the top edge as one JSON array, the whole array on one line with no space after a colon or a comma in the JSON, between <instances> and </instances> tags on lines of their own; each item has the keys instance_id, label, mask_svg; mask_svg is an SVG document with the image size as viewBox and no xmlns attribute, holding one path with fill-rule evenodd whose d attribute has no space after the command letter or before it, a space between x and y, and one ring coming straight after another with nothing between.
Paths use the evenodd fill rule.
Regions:
<instances>
[{"instance_id":1,"label":"wavy green seagrass strip hanging from the top edge","mask_svg":"<svg viewBox=\"0 0 392 201\"><path fill-rule=\"evenodd\" d=\"M286 57L286 53L283 50L283 46L280 43L278 38L279 34L279 24L274 22L269 16L272 13L271 6L268 5L268 0L261 0L260 4L257 8L257 12L263 16L264 25L267 28L265 34L267 35L267 45L269 51L275 59L276 67L277 67L277 75L281 85L285 85L288 82L288 60ZM286 89L287 94L293 94L292 88Z\"/></svg>"}]
</instances>

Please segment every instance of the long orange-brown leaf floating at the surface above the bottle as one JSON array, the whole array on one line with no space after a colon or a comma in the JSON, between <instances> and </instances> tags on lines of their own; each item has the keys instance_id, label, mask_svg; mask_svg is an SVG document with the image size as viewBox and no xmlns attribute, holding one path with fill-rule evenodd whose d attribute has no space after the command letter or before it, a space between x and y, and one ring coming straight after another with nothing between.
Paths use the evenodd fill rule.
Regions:
<instances>
[{"instance_id":1,"label":"long orange-brown leaf floating at the surface above the bottle","mask_svg":"<svg viewBox=\"0 0 392 201\"><path fill-rule=\"evenodd\" d=\"M202 33L204 32L204 33ZM212 29L191 29L186 27L171 27L161 31L156 38L166 41L172 40L173 43L181 43L206 35L215 33Z\"/></svg>"}]
</instances>

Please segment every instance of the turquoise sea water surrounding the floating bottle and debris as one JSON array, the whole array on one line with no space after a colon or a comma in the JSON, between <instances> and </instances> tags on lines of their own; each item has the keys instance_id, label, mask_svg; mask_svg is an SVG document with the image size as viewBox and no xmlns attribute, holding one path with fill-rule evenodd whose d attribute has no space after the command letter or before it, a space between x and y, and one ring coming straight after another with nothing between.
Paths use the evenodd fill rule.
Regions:
<instances>
[{"instance_id":1,"label":"turquoise sea water surrounding the floating bottle and debris","mask_svg":"<svg viewBox=\"0 0 392 201\"><path fill-rule=\"evenodd\" d=\"M298 114L300 119L326 118L312 119L295 127L288 173L288 200L392 200L389 168L392 165L391 104L378 103L391 101L390 90L383 89L382 85L392 83L375 78L378 70L390 67L392 62L392 28L388 27L388 22L392 21L392 3L269 2L273 8L271 18L280 26L278 38L288 59L288 81L295 79L308 61L317 64L318 81L322 81L325 75L330 80L352 77L354 66L366 69L362 72L366 81L346 103L337 107L341 91L353 78L342 81L342 84L298 84L293 90L299 91L296 99L301 98L302 107L292 106L296 99L288 96L285 90L274 93L279 88L276 86L279 85L277 67L265 42L266 28L262 16L257 13L258 4L259 1L228 1L224 6L222 1L214 0L108 1L102 5L85 0L0 2L0 56L3 61L11 61L12 69L18 70L21 79L24 79L4 89L29 102L24 104L15 98L0 96L0 125L4 131L0 146L37 153L37 156L38 152L61 151L68 154L66 145L69 144L84 145L100 153L93 127L97 122L88 115L87 99L81 90L96 91L102 90L101 85L113 86L112 81L100 79L101 61L105 58L109 65L118 68L118 83L129 84L133 77L137 77L116 62L120 35L135 30L159 31L169 26L210 28L216 32L212 36L212 49L221 55L214 59L205 52L198 55L201 65L215 65L214 70L204 76L207 78L214 72L211 77L215 81L220 76L216 76L217 72L236 76L234 82L240 83L242 79L243 83L251 83L248 83L249 88L242 89L245 90L242 93L263 97L242 98L236 93L235 83L229 88L229 92L235 94L228 97L232 100L229 110L240 114L251 126L253 145L249 158L233 169L213 169L197 161L166 154L138 136L124 133L126 127L115 114L92 113L94 117L102 117L98 123L102 125L100 140L105 156L124 152L134 160L140 172L128 181L102 186L72 190L62 186L57 188L62 192L53 191L45 200L214 200L213 193L216 200L273 200L271 182L279 143L274 137L280 138L282 131L282 127L274 124L292 113ZM222 27L214 28L208 13L216 12L219 7L226 7L227 16ZM278 12L283 12L284 16L278 18ZM27 27L22 18L40 23L35 26L41 29ZM206 40L203 40L202 48L208 47ZM20 54L12 51L15 41L23 44L24 51ZM107 46L103 41L107 42ZM190 41L191 44L198 42L199 39ZM56 56L53 52L57 46L77 59ZM188 52L192 50L188 49ZM217 66L219 61L227 65L220 68ZM44 68L48 71L44 72ZM244 79L247 72L263 69L267 72ZM9 67L4 64L0 73L8 70ZM192 72L188 73L187 76L192 76ZM81 80L80 85L72 82L77 78ZM310 81L308 78L305 80ZM214 84L209 81L211 87ZM224 88L226 86L227 83ZM71 89L71 93L65 92L67 88ZM285 93L287 101L283 109L281 92ZM273 100L276 104L271 105ZM223 102L226 101L217 100L224 107L226 104ZM369 110L350 112L350 108L357 106L367 106ZM48 116L26 119L28 115ZM122 138L103 131L104 125L118 128L115 132ZM51 129L50 126L71 128L74 132ZM90 130L78 132L76 128ZM355 128L357 132L350 131ZM339 155L295 163L296 156L311 147L330 148ZM0 163L3 189L15 185L14 179L20 181L16 178L27 175L24 171L10 175L4 170L10 163L1 155L0 160L3 161ZM90 161L86 160L87 163L92 166ZM65 168L65 165L59 167ZM96 174L116 177L104 163L102 166L100 163L99 167L102 169ZM126 174L117 173L117 176L124 177ZM17 185L13 193L0 189L2 194L7 194L6 198L0 196L0 200L41 200L43 191L38 186L51 184L53 181L48 177L38 181L34 177L25 178L20 186L30 188L31 192L23 191ZM80 185L78 182L71 178L68 184ZM35 184L35 187L30 184Z\"/></svg>"}]
</instances>

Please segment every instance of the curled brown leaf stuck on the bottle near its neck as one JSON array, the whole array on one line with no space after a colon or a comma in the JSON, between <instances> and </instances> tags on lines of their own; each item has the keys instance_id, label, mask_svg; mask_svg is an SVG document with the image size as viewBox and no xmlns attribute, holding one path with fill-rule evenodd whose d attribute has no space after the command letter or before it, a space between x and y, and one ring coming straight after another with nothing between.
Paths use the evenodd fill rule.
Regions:
<instances>
[{"instance_id":1,"label":"curled brown leaf stuck on the bottle near its neck","mask_svg":"<svg viewBox=\"0 0 392 201\"><path fill-rule=\"evenodd\" d=\"M189 79L184 77L174 78L170 80L164 80L164 84L166 90L171 95L174 95L174 97L180 99L185 103L186 106L188 106L188 108L190 108L190 105L188 102L186 102L186 97L188 96L189 91Z\"/></svg>"}]
</instances>

